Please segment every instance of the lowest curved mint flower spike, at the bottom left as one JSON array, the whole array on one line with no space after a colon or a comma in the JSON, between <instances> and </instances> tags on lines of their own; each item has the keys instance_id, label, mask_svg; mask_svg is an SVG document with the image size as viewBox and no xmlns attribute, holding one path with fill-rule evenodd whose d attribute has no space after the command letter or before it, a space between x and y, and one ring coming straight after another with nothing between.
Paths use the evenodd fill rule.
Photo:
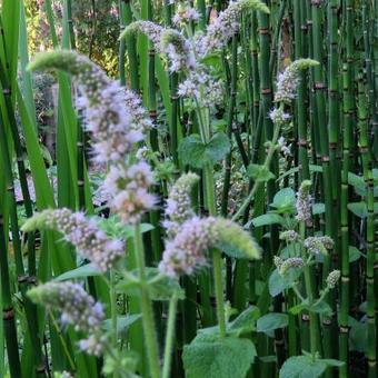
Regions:
<instances>
[{"instance_id":1,"label":"lowest curved mint flower spike, at the bottom left","mask_svg":"<svg viewBox=\"0 0 378 378\"><path fill-rule=\"evenodd\" d=\"M89 296L79 284L48 282L28 291L30 299L50 310L61 311L61 321L72 325L74 330L88 334L79 341L81 350L88 355L100 356L106 337L101 335L105 311L100 302Z\"/></svg>"}]
</instances>

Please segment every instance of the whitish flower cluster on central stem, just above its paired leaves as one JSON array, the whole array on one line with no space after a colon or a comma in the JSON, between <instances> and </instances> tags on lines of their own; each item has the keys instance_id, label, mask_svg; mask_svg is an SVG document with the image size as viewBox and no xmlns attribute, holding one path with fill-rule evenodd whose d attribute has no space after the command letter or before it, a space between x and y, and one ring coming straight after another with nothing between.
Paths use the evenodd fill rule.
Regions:
<instances>
[{"instance_id":1,"label":"whitish flower cluster on central stem, just above its paired leaves","mask_svg":"<svg viewBox=\"0 0 378 378\"><path fill-rule=\"evenodd\" d=\"M179 84L177 93L213 109L223 101L223 83L199 68Z\"/></svg>"}]
</instances>

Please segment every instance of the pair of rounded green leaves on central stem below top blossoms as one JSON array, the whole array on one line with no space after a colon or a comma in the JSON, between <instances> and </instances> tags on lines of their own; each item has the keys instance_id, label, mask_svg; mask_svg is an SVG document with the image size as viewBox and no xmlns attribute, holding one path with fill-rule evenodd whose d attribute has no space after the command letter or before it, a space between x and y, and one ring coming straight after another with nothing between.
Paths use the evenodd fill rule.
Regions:
<instances>
[{"instance_id":1,"label":"pair of rounded green leaves on central stem below top blossoms","mask_svg":"<svg viewBox=\"0 0 378 378\"><path fill-rule=\"evenodd\" d=\"M217 132L206 145L199 135L182 139L179 153L182 162L193 168L203 168L207 163L213 166L222 160L230 150L230 141L226 133Z\"/></svg>"}]
</instances>

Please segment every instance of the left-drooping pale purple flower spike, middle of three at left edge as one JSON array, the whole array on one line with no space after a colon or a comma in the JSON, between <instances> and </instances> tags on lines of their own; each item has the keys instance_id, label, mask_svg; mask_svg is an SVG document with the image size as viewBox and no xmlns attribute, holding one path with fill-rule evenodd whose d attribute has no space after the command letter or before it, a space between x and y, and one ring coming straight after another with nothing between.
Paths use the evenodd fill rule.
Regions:
<instances>
[{"instance_id":1,"label":"left-drooping pale purple flower spike, middle of three at left edge","mask_svg":"<svg viewBox=\"0 0 378 378\"><path fill-rule=\"evenodd\" d=\"M78 252L89 259L100 271L111 269L125 255L125 245L117 239L109 239L93 219L87 219L82 212L69 209L43 210L29 218L23 225L26 232L36 229L52 229L61 232Z\"/></svg>"}]
</instances>

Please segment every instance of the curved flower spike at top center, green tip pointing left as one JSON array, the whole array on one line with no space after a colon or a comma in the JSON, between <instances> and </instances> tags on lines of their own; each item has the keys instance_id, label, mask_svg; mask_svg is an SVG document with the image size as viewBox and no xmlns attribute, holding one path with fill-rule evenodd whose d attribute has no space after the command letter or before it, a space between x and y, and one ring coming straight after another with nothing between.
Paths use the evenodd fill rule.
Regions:
<instances>
[{"instance_id":1,"label":"curved flower spike at top center, green tip pointing left","mask_svg":"<svg viewBox=\"0 0 378 378\"><path fill-rule=\"evenodd\" d=\"M168 57L170 71L185 71L196 67L190 43L178 30L162 28L151 21L135 21L126 27L120 39L138 32L146 34L157 51Z\"/></svg>"}]
</instances>

